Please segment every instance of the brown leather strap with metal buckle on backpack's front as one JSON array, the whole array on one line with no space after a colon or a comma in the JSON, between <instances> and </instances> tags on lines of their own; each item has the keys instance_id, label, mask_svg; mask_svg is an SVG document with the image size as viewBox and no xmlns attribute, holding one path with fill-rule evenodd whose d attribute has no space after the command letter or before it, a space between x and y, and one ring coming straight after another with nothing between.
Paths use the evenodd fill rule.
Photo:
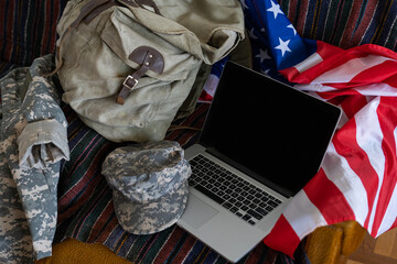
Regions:
<instances>
[{"instance_id":1,"label":"brown leather strap with metal buckle on backpack's front","mask_svg":"<svg viewBox=\"0 0 397 264\"><path fill-rule=\"evenodd\" d=\"M149 46L137 47L128 56L128 58L139 64L140 67L133 74L128 75L125 81L122 81L122 87L116 99L116 102L119 105L125 103L125 100L130 91L138 85L139 78L141 78L148 70L161 74L164 69L163 56L157 50Z\"/></svg>"}]
</instances>

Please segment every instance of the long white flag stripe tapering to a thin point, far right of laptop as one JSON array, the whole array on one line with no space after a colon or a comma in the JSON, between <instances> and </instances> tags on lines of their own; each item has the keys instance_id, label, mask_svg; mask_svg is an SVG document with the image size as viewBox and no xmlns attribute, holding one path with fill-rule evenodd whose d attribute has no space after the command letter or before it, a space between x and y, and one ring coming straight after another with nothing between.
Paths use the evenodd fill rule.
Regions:
<instances>
[{"instance_id":1,"label":"long white flag stripe tapering to a thin point, far right of laptop","mask_svg":"<svg viewBox=\"0 0 397 264\"><path fill-rule=\"evenodd\" d=\"M378 176L378 186L374 206L371 211L368 232L372 231L376 207L379 199L379 190L383 185L385 173L385 155L382 148L383 133L377 117L377 108L380 98L376 97L369 101L354 118L356 121L356 140L360 147L368 155L369 163Z\"/></svg>"}]
</instances>

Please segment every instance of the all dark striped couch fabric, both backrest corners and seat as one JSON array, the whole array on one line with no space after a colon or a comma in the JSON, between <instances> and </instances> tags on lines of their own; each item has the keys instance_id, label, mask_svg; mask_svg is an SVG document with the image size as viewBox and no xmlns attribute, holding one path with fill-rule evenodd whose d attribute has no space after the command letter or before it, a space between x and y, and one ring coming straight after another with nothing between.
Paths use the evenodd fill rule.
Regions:
<instances>
[{"instance_id":1,"label":"all dark striped couch fabric, both backrest corners and seat","mask_svg":"<svg viewBox=\"0 0 397 264\"><path fill-rule=\"evenodd\" d=\"M276 1L276 0L273 0ZM54 53L56 22L67 0L0 1L0 77L35 57ZM397 50L397 0L279 0L297 31L304 37L341 47L376 43ZM76 238L100 242L136 263L226 263L192 235L172 227L153 235L131 235L118 224L111 191L100 166L120 144L105 140L87 128L68 107L71 161L63 163L58 185L58 222L54 242ZM178 124L200 128L206 105ZM169 140L183 146L197 139L194 131L173 131ZM259 244L240 263L309 263L302 246L294 260Z\"/></svg>"}]
</instances>

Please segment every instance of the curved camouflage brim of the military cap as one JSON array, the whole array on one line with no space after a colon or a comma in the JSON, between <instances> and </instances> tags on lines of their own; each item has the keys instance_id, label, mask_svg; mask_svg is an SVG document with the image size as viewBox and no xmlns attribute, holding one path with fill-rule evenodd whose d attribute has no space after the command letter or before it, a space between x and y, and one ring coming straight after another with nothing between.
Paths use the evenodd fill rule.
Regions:
<instances>
[{"instance_id":1,"label":"curved camouflage brim of the military cap","mask_svg":"<svg viewBox=\"0 0 397 264\"><path fill-rule=\"evenodd\" d=\"M121 227L133 234L151 234L174 224L182 216L189 196L187 180L172 193L150 201L131 201L114 189L116 217Z\"/></svg>"}]
</instances>

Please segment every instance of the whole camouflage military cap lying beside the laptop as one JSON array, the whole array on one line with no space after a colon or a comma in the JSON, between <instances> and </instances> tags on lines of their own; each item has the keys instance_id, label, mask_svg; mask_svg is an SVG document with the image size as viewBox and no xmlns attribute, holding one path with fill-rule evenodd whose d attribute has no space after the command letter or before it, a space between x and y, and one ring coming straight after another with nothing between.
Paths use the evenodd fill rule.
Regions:
<instances>
[{"instance_id":1,"label":"whole camouflage military cap lying beside the laptop","mask_svg":"<svg viewBox=\"0 0 397 264\"><path fill-rule=\"evenodd\" d=\"M187 202L191 173L173 141L122 146L103 164L117 219L135 234L155 233L178 221Z\"/></svg>"}]
</instances>

